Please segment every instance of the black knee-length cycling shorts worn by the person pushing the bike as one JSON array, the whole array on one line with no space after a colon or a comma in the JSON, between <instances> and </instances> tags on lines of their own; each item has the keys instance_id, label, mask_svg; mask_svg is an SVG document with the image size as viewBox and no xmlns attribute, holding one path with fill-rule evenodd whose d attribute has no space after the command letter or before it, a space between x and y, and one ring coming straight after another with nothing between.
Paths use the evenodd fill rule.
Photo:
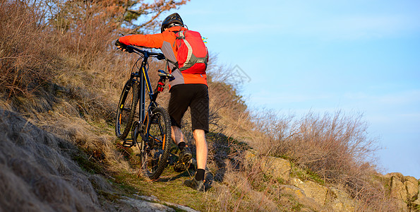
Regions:
<instances>
[{"instance_id":1,"label":"black knee-length cycling shorts worn by the person pushing the bike","mask_svg":"<svg viewBox=\"0 0 420 212\"><path fill-rule=\"evenodd\" d=\"M181 119L190 107L193 131L203 129L208 133L208 87L205 84L181 84L172 87L169 92L168 112L172 126L181 127Z\"/></svg>"}]
</instances>

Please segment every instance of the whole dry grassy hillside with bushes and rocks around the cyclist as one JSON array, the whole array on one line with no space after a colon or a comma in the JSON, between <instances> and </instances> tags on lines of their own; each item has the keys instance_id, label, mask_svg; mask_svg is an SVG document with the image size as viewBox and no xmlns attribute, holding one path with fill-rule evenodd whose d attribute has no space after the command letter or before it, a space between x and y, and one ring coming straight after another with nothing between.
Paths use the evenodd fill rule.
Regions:
<instances>
[{"instance_id":1,"label":"whole dry grassy hillside with bushes and rocks around the cyclist","mask_svg":"<svg viewBox=\"0 0 420 212\"><path fill-rule=\"evenodd\" d=\"M207 192L182 186L193 165L179 174L169 164L151 182L136 147L114 135L137 58L112 46L126 30L115 16L95 11L119 10L69 3L45 18L54 7L31 2L0 1L0 211L420 210L418 179L378 174L377 143L360 114L251 112L211 55ZM162 66L150 61L154 85Z\"/></svg>"}]
</instances>

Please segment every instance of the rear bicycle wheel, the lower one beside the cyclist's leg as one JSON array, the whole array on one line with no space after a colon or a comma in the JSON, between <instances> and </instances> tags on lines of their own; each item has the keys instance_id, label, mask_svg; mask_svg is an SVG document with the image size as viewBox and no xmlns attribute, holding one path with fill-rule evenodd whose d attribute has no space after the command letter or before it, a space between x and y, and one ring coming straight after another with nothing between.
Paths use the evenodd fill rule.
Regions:
<instances>
[{"instance_id":1,"label":"rear bicycle wheel, the lower one beside the cyclist's leg","mask_svg":"<svg viewBox=\"0 0 420 212\"><path fill-rule=\"evenodd\" d=\"M171 119L164 108L157 107L148 119L148 138L140 153L141 169L150 179L157 179L167 166L171 139Z\"/></svg>"}]
</instances>

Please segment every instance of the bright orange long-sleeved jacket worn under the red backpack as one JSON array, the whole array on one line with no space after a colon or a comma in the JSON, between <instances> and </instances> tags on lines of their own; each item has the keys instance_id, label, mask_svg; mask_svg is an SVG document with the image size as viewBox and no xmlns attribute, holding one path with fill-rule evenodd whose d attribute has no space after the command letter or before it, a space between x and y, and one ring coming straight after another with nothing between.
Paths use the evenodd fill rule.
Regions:
<instances>
[{"instance_id":1,"label":"bright orange long-sleeved jacket worn under the red backpack","mask_svg":"<svg viewBox=\"0 0 420 212\"><path fill-rule=\"evenodd\" d=\"M126 35L119 38L119 42L125 45L136 45L140 47L159 48L164 56L176 61L178 49L176 47L176 35L174 32L187 30L181 26L174 26L165 30L163 33L152 35ZM170 86L179 84L205 84L207 85L207 76L205 74L182 73L179 69L174 69L172 63L168 63L169 72L174 75L175 79L169 82Z\"/></svg>"}]
</instances>

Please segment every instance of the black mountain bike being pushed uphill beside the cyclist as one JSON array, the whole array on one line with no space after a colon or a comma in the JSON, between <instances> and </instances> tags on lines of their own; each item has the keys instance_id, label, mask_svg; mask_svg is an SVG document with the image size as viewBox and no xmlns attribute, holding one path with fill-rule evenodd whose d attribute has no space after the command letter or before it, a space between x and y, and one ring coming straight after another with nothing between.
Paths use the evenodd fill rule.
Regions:
<instances>
[{"instance_id":1,"label":"black mountain bike being pushed uphill beside the cyclist","mask_svg":"<svg viewBox=\"0 0 420 212\"><path fill-rule=\"evenodd\" d=\"M169 114L167 110L157 104L156 99L157 95L164 90L165 81L172 81L174 76L158 70L160 79L155 90L152 90L148 76L148 59L150 57L164 59L164 55L133 46L126 46L126 52L138 54L140 57L133 65L131 76L124 85L119 99L115 134L123 140L124 147L138 146L143 172L150 179L157 179L167 165L172 139ZM145 95L147 94L150 103L146 110ZM138 120L134 120L138 102L140 102ZM131 139L127 139L130 131ZM137 141L138 136L141 141Z\"/></svg>"}]
</instances>

